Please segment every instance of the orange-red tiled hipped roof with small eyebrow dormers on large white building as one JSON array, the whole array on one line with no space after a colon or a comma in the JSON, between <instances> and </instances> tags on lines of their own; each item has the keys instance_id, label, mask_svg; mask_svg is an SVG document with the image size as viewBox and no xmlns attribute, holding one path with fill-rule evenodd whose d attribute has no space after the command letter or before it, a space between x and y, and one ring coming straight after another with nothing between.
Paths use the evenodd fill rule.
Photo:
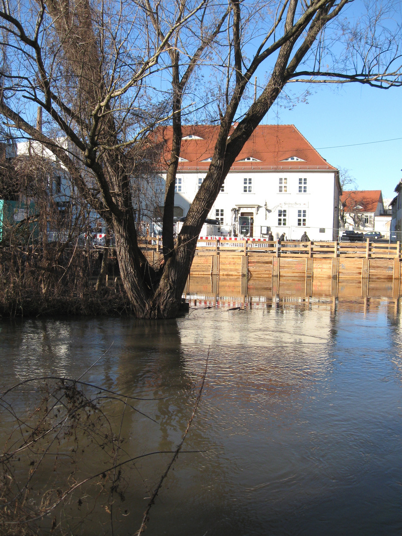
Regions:
<instances>
[{"instance_id":1,"label":"orange-red tiled hipped roof with small eyebrow dormers on large white building","mask_svg":"<svg viewBox=\"0 0 402 536\"><path fill-rule=\"evenodd\" d=\"M212 157L217 140L219 126L186 125L183 126L183 138L198 136L202 139L183 139L179 169L207 169L210 165L207 158ZM160 128L155 132L158 141L165 141L164 158L169 160L169 147L172 146L172 126ZM300 160L286 159L296 157ZM258 161L242 161L252 158ZM294 125L259 125L245 143L243 150L236 158L231 170L256 169L330 169L336 170L322 158L314 147L301 135Z\"/></svg>"}]
</instances>

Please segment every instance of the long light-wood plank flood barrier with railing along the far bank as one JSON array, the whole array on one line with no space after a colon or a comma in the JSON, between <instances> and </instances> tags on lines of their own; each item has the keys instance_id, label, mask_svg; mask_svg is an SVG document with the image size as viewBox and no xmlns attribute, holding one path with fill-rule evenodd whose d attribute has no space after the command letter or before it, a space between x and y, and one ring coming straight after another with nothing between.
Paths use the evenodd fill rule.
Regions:
<instances>
[{"instance_id":1,"label":"long light-wood plank flood barrier with railing along the far bank","mask_svg":"<svg viewBox=\"0 0 402 536\"><path fill-rule=\"evenodd\" d=\"M161 241L144 253L153 265ZM401 279L400 243L299 242L222 238L197 242L191 276L248 278Z\"/></svg>"}]
</instances>

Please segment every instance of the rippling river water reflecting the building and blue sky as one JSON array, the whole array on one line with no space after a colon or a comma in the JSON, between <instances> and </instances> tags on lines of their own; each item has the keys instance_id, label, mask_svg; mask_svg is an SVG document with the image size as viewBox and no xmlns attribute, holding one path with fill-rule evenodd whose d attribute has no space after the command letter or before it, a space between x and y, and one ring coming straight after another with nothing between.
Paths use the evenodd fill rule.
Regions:
<instances>
[{"instance_id":1,"label":"rippling river water reflecting the building and blue sky","mask_svg":"<svg viewBox=\"0 0 402 536\"><path fill-rule=\"evenodd\" d=\"M43 534L52 520L63 534L135 534L172 459L160 452L180 443L205 367L195 418L146 534L401 534L399 302L271 295L241 303L193 295L190 313L166 322L3 321L1 392L34 376L82 376L123 394L108 394L103 408L122 440L117 454L110 450L105 458L109 446L93 435L81 440L85 448L73 463L68 451L78 450L78 439L61 441L60 434L57 448L42 449L32 508L43 504L55 478L62 489L109 470L111 458L120 463L159 452L122 465L113 494L99 481L77 488L38 522ZM42 390L28 382L6 394L6 403L2 398L2 448L19 445L12 425L34 413ZM18 434L26 434L23 427ZM38 450L24 450L13 477L27 478Z\"/></svg>"}]
</instances>

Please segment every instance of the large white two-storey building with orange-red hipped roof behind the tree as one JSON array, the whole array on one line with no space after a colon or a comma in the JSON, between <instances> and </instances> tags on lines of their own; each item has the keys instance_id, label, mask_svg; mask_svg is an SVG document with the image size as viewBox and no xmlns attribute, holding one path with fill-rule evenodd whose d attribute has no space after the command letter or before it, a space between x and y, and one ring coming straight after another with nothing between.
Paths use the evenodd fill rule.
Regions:
<instances>
[{"instance_id":1,"label":"large white two-storey building with orange-red hipped roof behind the tree","mask_svg":"<svg viewBox=\"0 0 402 536\"><path fill-rule=\"evenodd\" d=\"M175 215L185 216L210 165L218 127L183 127L176 178ZM162 133L166 154L172 128ZM162 174L166 180L166 174ZM160 191L164 191L161 184ZM224 234L274 239L334 240L339 227L338 170L324 160L294 125L260 125L226 177L209 218ZM160 198L160 205L162 198ZM335 230L334 230L335 229Z\"/></svg>"}]
</instances>

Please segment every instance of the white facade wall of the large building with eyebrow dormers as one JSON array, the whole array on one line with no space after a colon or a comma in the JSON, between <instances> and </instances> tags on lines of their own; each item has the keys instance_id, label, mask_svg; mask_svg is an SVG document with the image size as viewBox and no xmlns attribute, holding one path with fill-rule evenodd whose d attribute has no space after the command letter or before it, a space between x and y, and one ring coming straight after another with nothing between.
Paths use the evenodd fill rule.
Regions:
<instances>
[{"instance_id":1,"label":"white facade wall of the large building with eyebrow dormers","mask_svg":"<svg viewBox=\"0 0 402 536\"><path fill-rule=\"evenodd\" d=\"M184 215L198 191L198 178L205 175L206 172L177 173L177 177L182 179L182 191L175 194L175 205L183 208ZM251 178L251 192L243 192L244 178ZM285 186L283 179L287 179L286 192L279 192L280 178L282 190ZM307 179L305 193L299 193L299 178ZM303 190L305 184L302 182ZM230 226L233 224L232 209L238 209L238 215L241 212L254 215L255 237L260 236L261 227L271 227L274 239L285 232L288 239L299 240L306 230L311 240L332 240L334 210L337 205L334 200L335 185L336 172L333 171L230 172L225 180L225 191L219 193L209 218L216 217L216 210L223 210L224 225ZM286 225L278 225L280 210L286 210ZM297 225L299 210L306 211L306 226ZM301 217L303 218L303 212ZM320 232L320 229L325 231Z\"/></svg>"}]
</instances>

